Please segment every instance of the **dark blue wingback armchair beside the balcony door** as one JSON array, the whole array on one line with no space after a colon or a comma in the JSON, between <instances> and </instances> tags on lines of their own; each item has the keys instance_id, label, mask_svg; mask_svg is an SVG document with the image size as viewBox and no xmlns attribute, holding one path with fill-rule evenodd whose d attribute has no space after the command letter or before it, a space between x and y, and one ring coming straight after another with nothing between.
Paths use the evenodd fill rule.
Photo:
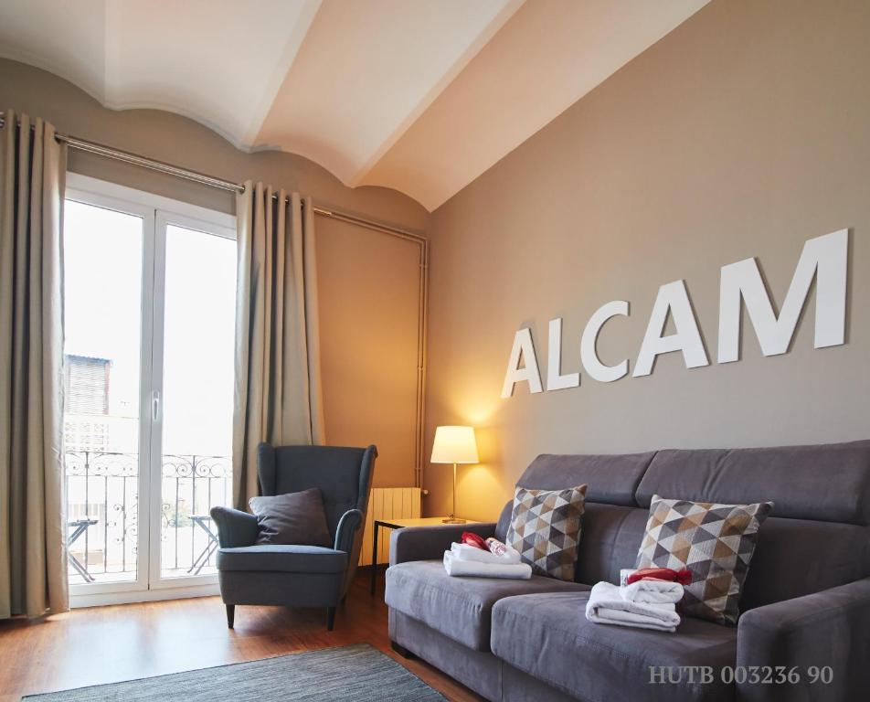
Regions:
<instances>
[{"instance_id":1,"label":"dark blue wingback armchair beside the balcony door","mask_svg":"<svg viewBox=\"0 0 870 702\"><path fill-rule=\"evenodd\" d=\"M255 545L257 517L215 507L217 580L233 628L237 604L325 607L333 630L335 607L354 580L363 538L377 448L278 446L257 448L261 495L284 495L319 487L334 548Z\"/></svg>"}]
</instances>

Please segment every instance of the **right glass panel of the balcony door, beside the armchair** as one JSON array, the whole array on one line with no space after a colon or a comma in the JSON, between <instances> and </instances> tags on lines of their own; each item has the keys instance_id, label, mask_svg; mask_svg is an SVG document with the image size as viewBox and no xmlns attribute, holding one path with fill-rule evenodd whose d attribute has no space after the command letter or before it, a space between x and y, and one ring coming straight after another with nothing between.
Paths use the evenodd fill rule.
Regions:
<instances>
[{"instance_id":1,"label":"right glass panel of the balcony door, beside the armchair","mask_svg":"<svg viewBox=\"0 0 870 702\"><path fill-rule=\"evenodd\" d=\"M235 231L158 212L154 299L152 583L213 574L209 510L232 500Z\"/></svg>"}]
</instances>

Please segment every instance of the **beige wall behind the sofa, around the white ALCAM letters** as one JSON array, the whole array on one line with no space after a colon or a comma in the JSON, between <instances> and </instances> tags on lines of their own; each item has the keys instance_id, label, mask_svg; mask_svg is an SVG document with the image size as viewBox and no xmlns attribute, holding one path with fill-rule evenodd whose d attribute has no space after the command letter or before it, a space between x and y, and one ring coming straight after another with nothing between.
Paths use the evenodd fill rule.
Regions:
<instances>
[{"instance_id":1,"label":"beige wall behind the sofa, around the white ALCAM letters","mask_svg":"<svg viewBox=\"0 0 870 702\"><path fill-rule=\"evenodd\" d=\"M435 212L427 450L437 424L479 428L461 515L497 515L540 452L870 438L868 34L864 0L714 0ZM715 358L720 267L757 256L781 303L803 242L845 227L845 346L812 348L811 308L784 356L745 326L737 363L671 354L647 378L499 399L518 328L546 373L564 317L577 370L589 315L628 300L599 352L633 367L658 287L679 279ZM449 473L429 468L430 514Z\"/></svg>"}]
</instances>

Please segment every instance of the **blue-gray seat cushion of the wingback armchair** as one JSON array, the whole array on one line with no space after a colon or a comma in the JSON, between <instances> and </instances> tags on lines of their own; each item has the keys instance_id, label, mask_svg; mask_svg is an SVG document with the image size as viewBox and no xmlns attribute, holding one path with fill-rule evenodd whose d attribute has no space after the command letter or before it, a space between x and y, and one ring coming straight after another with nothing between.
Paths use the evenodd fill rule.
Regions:
<instances>
[{"instance_id":1,"label":"blue-gray seat cushion of the wingback armchair","mask_svg":"<svg viewBox=\"0 0 870 702\"><path fill-rule=\"evenodd\" d=\"M347 565L345 551L320 546L262 544L218 548L218 570L271 570L280 573L341 573Z\"/></svg>"}]
</instances>

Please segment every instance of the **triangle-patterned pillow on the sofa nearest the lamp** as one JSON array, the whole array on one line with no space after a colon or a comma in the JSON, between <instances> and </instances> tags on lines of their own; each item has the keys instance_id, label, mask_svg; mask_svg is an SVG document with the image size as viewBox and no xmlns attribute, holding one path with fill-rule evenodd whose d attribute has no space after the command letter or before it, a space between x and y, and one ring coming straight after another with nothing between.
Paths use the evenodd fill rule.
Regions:
<instances>
[{"instance_id":1,"label":"triangle-patterned pillow on the sofa nearest the lamp","mask_svg":"<svg viewBox=\"0 0 870 702\"><path fill-rule=\"evenodd\" d=\"M586 487L516 488L507 543L520 552L537 575L574 580Z\"/></svg>"}]
</instances>

